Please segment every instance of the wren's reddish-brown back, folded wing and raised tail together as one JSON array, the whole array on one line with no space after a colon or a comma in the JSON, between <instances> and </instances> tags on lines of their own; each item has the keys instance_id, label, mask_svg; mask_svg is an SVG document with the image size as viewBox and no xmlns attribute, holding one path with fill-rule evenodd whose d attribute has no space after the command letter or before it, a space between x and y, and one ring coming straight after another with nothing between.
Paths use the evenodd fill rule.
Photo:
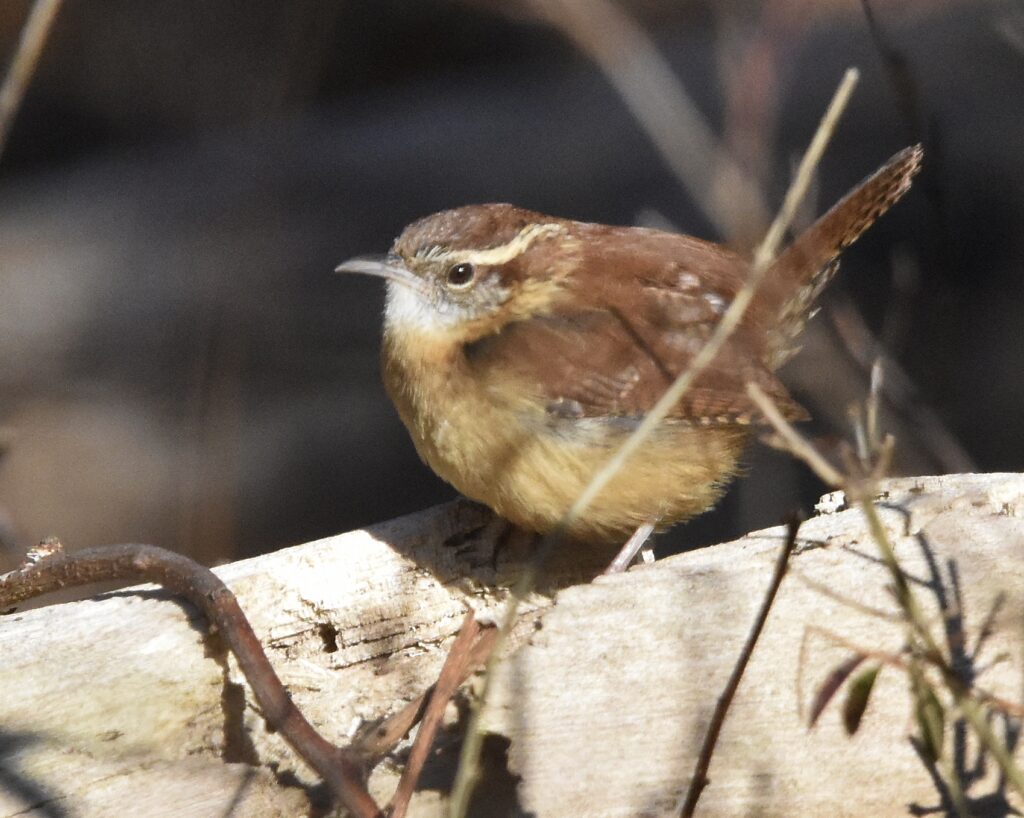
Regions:
<instances>
[{"instance_id":1,"label":"wren's reddish-brown back, folded wing and raised tail together","mask_svg":"<svg viewBox=\"0 0 1024 818\"><path fill-rule=\"evenodd\" d=\"M833 260L906 191L920 164L920 146L897 154L779 256L737 331L670 417L748 422L758 417L748 382L786 417L807 416L773 370L792 353ZM511 399L525 389L556 415L643 416L707 342L749 264L718 245L659 230L574 223L572 232L582 255L561 305L469 344L468 364L496 394ZM539 244L534 252L550 250ZM511 266L526 269L521 262Z\"/></svg>"}]
</instances>

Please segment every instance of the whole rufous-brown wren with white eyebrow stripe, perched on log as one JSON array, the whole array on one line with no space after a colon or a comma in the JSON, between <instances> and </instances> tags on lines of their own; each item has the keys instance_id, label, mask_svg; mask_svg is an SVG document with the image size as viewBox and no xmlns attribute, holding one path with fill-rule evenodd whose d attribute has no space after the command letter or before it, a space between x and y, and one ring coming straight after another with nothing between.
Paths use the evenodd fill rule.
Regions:
<instances>
[{"instance_id":1,"label":"whole rufous-brown wren with white eyebrow stripe, perched on log","mask_svg":"<svg viewBox=\"0 0 1024 818\"><path fill-rule=\"evenodd\" d=\"M920 145L901 150L778 256L712 365L567 533L621 543L712 506L758 423L750 381L807 417L775 371L840 252L906 192L921 159ZM689 235L470 205L338 270L387 279L384 383L423 460L544 532L686 369L750 266Z\"/></svg>"}]
</instances>

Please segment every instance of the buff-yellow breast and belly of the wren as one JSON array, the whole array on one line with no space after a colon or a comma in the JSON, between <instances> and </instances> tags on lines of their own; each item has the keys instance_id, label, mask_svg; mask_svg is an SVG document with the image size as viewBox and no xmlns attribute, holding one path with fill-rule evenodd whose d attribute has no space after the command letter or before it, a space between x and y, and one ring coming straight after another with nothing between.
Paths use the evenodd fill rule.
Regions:
<instances>
[{"instance_id":1,"label":"buff-yellow breast and belly of the wren","mask_svg":"<svg viewBox=\"0 0 1024 818\"><path fill-rule=\"evenodd\" d=\"M629 434L622 421L553 422L542 406L512 405L451 361L399 359L393 346L385 345L384 376L427 465L466 497L534 531L563 520ZM735 473L745 438L740 426L663 427L568 533L615 542L644 522L667 525L699 514Z\"/></svg>"}]
</instances>

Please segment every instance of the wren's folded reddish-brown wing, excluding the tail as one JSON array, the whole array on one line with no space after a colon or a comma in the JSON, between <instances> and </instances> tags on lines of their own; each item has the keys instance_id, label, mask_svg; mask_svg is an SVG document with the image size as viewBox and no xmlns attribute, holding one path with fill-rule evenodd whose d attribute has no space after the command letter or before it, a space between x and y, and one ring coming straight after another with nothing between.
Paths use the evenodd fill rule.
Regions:
<instances>
[{"instance_id":1,"label":"wren's folded reddish-brown wing, excluding the tail","mask_svg":"<svg viewBox=\"0 0 1024 818\"><path fill-rule=\"evenodd\" d=\"M525 389L554 415L645 415L711 336L745 264L686 236L652 231L640 246L635 233L631 240L624 246L610 232L591 236L589 268L604 267L605 274L574 281L553 314L511 322L469 344L469 365L489 379L496 393L514 382L513 392ZM667 254L659 245L670 241L675 252ZM718 268L709 251L718 254ZM699 281L689 263L697 260L703 264ZM763 346L756 331L740 327L670 417L748 423L757 416L746 397L753 381L788 418L806 418L761 362Z\"/></svg>"}]
</instances>

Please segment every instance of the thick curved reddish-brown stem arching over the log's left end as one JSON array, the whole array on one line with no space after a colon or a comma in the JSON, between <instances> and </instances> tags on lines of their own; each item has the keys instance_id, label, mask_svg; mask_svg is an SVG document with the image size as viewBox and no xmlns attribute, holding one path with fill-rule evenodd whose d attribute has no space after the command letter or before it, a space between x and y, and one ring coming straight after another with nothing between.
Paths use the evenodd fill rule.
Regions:
<instances>
[{"instance_id":1,"label":"thick curved reddish-brown stem arching over the log's left end","mask_svg":"<svg viewBox=\"0 0 1024 818\"><path fill-rule=\"evenodd\" d=\"M156 546L123 545L43 556L0 576L0 609L61 588L111 579L157 583L198 607L239 660L267 725L324 779L357 818L379 818L352 754L313 728L292 701L238 599L198 562Z\"/></svg>"}]
</instances>

